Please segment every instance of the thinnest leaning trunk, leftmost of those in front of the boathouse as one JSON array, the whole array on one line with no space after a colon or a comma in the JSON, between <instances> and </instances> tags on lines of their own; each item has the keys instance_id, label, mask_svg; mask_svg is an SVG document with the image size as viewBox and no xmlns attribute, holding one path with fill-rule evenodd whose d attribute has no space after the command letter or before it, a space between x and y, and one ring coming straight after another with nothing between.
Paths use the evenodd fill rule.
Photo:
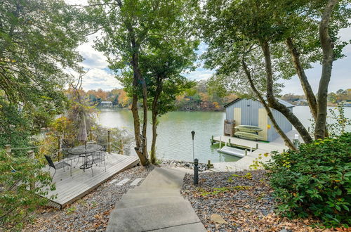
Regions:
<instances>
[{"instance_id":1,"label":"thinnest leaning trunk, leftmost of those in front of the boathouse","mask_svg":"<svg viewBox=\"0 0 351 232\"><path fill-rule=\"evenodd\" d=\"M251 73L249 71L249 68L247 67L244 58L241 60L241 63L244 67L244 72L246 74L247 79L249 79L249 83L251 86L251 89L253 90L253 92L256 94L256 96L258 97L258 100L260 101L260 103L262 103L263 107L265 108L268 117L270 117L270 121L273 124L273 127L277 130L278 134L280 136L282 136L285 145L290 148L291 150L296 150L295 146L293 146L293 142L291 142L291 140L289 139L288 136L286 136L286 134L284 133L284 131L279 127L279 124L277 123L277 121L274 119L274 116L272 114L272 111L270 110L270 108L268 107L267 103L265 102L265 99L263 99L263 97L261 96L260 92L256 89L255 84L253 83L253 79L251 77Z\"/></svg>"}]
</instances>

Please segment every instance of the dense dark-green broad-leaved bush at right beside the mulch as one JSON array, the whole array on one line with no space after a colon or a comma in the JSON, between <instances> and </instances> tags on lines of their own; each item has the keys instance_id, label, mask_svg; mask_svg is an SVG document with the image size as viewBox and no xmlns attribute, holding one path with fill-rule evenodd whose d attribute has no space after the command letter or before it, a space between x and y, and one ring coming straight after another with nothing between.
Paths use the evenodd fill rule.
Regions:
<instances>
[{"instance_id":1,"label":"dense dark-green broad-leaved bush at right beside the mulch","mask_svg":"<svg viewBox=\"0 0 351 232\"><path fill-rule=\"evenodd\" d=\"M351 133L274 153L265 168L271 171L278 212L286 217L313 215L325 226L349 227L350 158Z\"/></svg>"}]
</instances>

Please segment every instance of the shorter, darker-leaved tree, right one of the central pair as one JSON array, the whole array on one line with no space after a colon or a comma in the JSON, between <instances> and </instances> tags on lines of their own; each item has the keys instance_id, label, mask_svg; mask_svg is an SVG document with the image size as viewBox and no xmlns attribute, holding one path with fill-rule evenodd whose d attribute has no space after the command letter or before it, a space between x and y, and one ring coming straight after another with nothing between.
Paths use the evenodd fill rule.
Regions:
<instances>
[{"instance_id":1,"label":"shorter, darker-leaved tree, right one of the central pair","mask_svg":"<svg viewBox=\"0 0 351 232\"><path fill-rule=\"evenodd\" d=\"M197 56L194 49L198 42L191 34L184 33L183 23L180 27L172 27L173 38L155 44L155 49L140 58L141 70L147 79L147 90L152 112L152 144L150 160L156 160L156 139L158 117L174 109L176 96L192 87L194 82L188 81L180 73L193 68ZM183 36L178 36L183 31ZM172 41L170 41L172 40Z\"/></svg>"}]
</instances>

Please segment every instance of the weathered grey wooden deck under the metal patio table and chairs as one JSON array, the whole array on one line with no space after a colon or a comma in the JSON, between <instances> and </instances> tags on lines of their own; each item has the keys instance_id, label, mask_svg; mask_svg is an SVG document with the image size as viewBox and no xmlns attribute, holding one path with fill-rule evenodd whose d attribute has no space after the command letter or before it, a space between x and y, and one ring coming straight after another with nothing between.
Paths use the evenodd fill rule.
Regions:
<instances>
[{"instance_id":1,"label":"weathered grey wooden deck under the metal patio table and chairs","mask_svg":"<svg viewBox=\"0 0 351 232\"><path fill-rule=\"evenodd\" d=\"M50 205L60 208L65 207L65 205L93 191L93 189L110 179L114 174L138 165L139 159L135 156L112 153L107 154L105 162L106 172L102 162L101 167L99 167L99 165L93 166L94 176L92 175L91 169L86 169L85 172L83 172L79 167L72 168L72 176L70 176L67 167L65 168L65 172L63 172L63 169L58 169L53 178L53 181L56 183L56 190L49 191L48 195L45 196L46 198L50 198L51 195L57 196L57 198L51 200ZM73 164L74 161L72 161L72 165ZM47 171L48 166L44 169ZM55 170L51 168L50 172L51 175L53 175Z\"/></svg>"}]
</instances>

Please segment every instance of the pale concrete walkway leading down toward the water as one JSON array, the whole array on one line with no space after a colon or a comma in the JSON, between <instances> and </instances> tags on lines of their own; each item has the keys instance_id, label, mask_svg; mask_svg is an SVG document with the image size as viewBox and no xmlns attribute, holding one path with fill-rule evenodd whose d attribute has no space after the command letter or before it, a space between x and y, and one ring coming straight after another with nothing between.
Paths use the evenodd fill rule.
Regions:
<instances>
[{"instance_id":1,"label":"pale concrete walkway leading down toward the water","mask_svg":"<svg viewBox=\"0 0 351 232\"><path fill-rule=\"evenodd\" d=\"M184 176L180 170L155 167L117 202L107 231L206 231L180 195Z\"/></svg>"}]
</instances>

